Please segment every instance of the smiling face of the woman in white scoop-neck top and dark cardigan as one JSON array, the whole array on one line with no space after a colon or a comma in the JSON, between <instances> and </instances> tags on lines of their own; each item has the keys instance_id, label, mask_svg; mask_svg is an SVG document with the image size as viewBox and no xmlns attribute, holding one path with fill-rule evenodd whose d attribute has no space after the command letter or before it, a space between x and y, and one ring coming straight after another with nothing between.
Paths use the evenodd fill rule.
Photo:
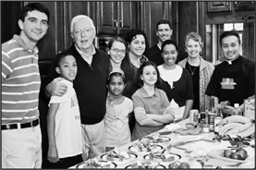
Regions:
<instances>
[{"instance_id":1,"label":"smiling face of the woman in white scoop-neck top and dark cardigan","mask_svg":"<svg viewBox=\"0 0 256 170\"><path fill-rule=\"evenodd\" d=\"M164 58L165 65L173 66L177 60L177 49L173 44L166 44L163 49L162 56Z\"/></svg>"}]
</instances>

